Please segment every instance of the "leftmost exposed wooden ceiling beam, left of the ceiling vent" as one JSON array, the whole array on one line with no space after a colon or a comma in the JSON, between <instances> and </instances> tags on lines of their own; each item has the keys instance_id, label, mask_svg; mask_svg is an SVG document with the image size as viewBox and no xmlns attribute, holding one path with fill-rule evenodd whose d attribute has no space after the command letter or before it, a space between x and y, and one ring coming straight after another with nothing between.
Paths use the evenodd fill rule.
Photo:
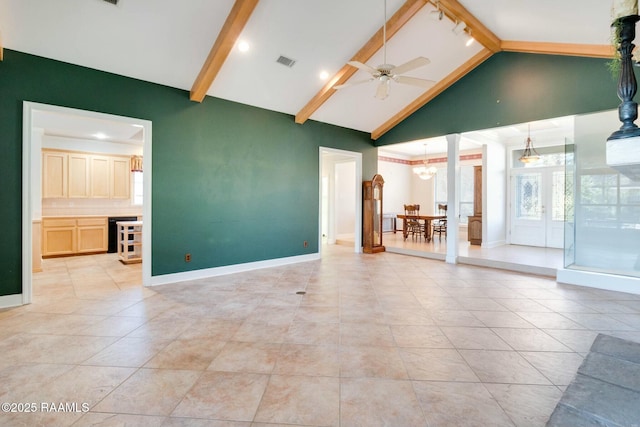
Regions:
<instances>
[{"instance_id":1,"label":"leftmost exposed wooden ceiling beam, left of the ceiling vent","mask_svg":"<svg viewBox=\"0 0 640 427\"><path fill-rule=\"evenodd\" d=\"M253 10L259 0L236 0L227 20L218 34L216 42L213 44L209 56L207 57L196 81L191 87L189 98L192 101L202 102L207 91L213 84L218 72L224 65L231 49L236 43L242 29L249 21Z\"/></svg>"}]
</instances>

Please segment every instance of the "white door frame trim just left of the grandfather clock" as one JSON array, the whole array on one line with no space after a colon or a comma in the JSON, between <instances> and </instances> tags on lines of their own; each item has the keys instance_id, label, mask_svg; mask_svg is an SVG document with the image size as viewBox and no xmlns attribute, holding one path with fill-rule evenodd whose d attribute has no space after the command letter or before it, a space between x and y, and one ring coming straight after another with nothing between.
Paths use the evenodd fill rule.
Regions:
<instances>
[{"instance_id":1,"label":"white door frame trim just left of the grandfather clock","mask_svg":"<svg viewBox=\"0 0 640 427\"><path fill-rule=\"evenodd\" d=\"M340 150L337 148L319 147L319 171L318 171L318 253L322 255L322 172L324 170L325 162L324 155L332 154L339 155L345 160L352 160L355 162L355 221L354 221L354 252L362 253L362 153L356 151ZM330 186L331 187L331 186ZM329 195L329 216L334 215L335 212L335 199L332 198L332 194ZM330 227L331 221L329 221Z\"/></svg>"}]
</instances>

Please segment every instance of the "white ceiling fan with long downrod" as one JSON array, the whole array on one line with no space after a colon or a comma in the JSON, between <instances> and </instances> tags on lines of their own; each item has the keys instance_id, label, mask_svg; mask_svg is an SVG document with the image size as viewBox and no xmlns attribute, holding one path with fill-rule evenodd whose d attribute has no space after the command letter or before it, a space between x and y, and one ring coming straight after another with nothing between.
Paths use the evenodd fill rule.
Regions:
<instances>
[{"instance_id":1,"label":"white ceiling fan with long downrod","mask_svg":"<svg viewBox=\"0 0 640 427\"><path fill-rule=\"evenodd\" d=\"M435 82L433 80L420 79L418 77L409 77L403 76L402 74L408 73L409 71L415 70L416 68L423 67L429 64L428 58L423 56L419 56L414 58L408 62L405 62L402 65L398 65L397 67L392 64L387 64L387 0L384 1L384 25L382 26L382 54L383 61L382 65L378 65L377 67L371 67L367 64L363 64L360 61L349 61L348 64L359 68L367 73L371 74L371 77L365 80L355 81L353 83L345 83L341 85L336 85L334 89L342 89L348 86L354 86L361 83L367 83L374 80L379 81L378 88L376 90L375 97L382 100L389 96L389 83L393 80L396 83L408 84L412 86L419 87L429 87Z\"/></svg>"}]
</instances>

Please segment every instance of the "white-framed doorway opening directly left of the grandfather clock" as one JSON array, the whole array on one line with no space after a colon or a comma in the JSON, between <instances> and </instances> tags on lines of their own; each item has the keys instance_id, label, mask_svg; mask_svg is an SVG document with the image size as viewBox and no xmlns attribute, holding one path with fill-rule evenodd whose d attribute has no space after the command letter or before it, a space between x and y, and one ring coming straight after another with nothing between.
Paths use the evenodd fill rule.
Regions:
<instances>
[{"instance_id":1,"label":"white-framed doorway opening directly left of the grandfather clock","mask_svg":"<svg viewBox=\"0 0 640 427\"><path fill-rule=\"evenodd\" d=\"M320 147L319 252L347 243L362 252L362 153Z\"/></svg>"}]
</instances>

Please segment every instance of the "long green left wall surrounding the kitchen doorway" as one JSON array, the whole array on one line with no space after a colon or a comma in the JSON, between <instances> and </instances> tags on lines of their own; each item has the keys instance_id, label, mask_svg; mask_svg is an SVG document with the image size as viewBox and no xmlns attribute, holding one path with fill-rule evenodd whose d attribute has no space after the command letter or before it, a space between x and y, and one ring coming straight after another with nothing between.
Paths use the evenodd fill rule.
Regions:
<instances>
[{"instance_id":1,"label":"long green left wall surrounding the kitchen doorway","mask_svg":"<svg viewBox=\"0 0 640 427\"><path fill-rule=\"evenodd\" d=\"M367 133L5 49L0 296L22 291L23 101L152 121L154 276L315 253L319 147L363 153L365 179L377 170Z\"/></svg>"}]
</instances>

